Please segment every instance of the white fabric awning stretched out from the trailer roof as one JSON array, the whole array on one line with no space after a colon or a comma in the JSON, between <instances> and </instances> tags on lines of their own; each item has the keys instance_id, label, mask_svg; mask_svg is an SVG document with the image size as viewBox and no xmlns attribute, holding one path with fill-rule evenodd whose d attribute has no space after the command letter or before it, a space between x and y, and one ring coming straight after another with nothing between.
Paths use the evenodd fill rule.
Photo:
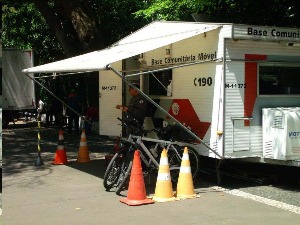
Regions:
<instances>
[{"instance_id":1,"label":"white fabric awning stretched out from the trailer roof","mask_svg":"<svg viewBox=\"0 0 300 225\"><path fill-rule=\"evenodd\" d=\"M22 72L31 74L99 71L109 63L193 37L220 26L222 25L154 21L103 50L24 69Z\"/></svg>"}]
</instances>

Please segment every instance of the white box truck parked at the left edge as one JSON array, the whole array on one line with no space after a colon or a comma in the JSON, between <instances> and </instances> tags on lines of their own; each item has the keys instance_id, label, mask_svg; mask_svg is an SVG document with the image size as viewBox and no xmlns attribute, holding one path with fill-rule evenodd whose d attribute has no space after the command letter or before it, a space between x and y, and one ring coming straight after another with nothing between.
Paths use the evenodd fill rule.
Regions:
<instances>
[{"instance_id":1,"label":"white box truck parked at the left edge","mask_svg":"<svg viewBox=\"0 0 300 225\"><path fill-rule=\"evenodd\" d=\"M22 70L34 66L33 51L2 49L2 128L34 109L34 82ZM33 74L30 74L33 76Z\"/></svg>"}]
</instances>

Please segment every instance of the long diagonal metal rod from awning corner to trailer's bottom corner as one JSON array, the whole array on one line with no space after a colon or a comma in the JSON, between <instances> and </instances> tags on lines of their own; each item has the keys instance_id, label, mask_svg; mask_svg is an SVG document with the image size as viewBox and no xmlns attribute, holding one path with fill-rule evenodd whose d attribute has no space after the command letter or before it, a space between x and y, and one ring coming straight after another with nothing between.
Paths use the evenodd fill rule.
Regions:
<instances>
[{"instance_id":1,"label":"long diagonal metal rod from awning corner to trailer's bottom corner","mask_svg":"<svg viewBox=\"0 0 300 225\"><path fill-rule=\"evenodd\" d=\"M222 159L222 156L219 155L216 151L214 151L211 147L209 147L204 141L202 141L197 135L195 135L192 131L190 131L188 128L184 127L183 124L181 124L177 119L175 119L172 115L170 115L166 110L164 110L162 107L160 107L156 102L154 102L151 98L149 98L144 92L142 92L140 89L138 89L136 86L134 86L126 77L122 76L117 70L115 70L111 65L105 66L106 70L112 70L115 74L117 74L120 78L124 80L128 85L132 86L137 92L139 92L144 98L146 98L149 102L151 102L153 105L155 105L160 111L162 111L164 114L168 115L171 119L175 120L180 127L182 127L185 131L188 132L188 134L192 135L197 141L199 141L201 144L203 144L205 147L207 147L209 150L211 150L213 153L215 153L217 156Z\"/></svg>"}]
</instances>

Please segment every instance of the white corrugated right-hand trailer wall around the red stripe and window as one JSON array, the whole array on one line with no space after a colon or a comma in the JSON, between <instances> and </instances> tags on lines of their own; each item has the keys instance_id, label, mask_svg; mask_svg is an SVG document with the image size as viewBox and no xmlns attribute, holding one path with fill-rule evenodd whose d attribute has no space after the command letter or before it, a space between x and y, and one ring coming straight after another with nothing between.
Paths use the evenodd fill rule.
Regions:
<instances>
[{"instance_id":1,"label":"white corrugated right-hand trailer wall around the red stripe and window","mask_svg":"<svg viewBox=\"0 0 300 225\"><path fill-rule=\"evenodd\" d=\"M227 59L245 59L245 54L267 55L268 57L277 57L284 60L288 57L300 56L300 47L282 46L279 42L266 41L247 41L226 40L226 58ZM225 83L239 84L245 83L245 62L226 62ZM256 76L256 75L254 75ZM255 84L256 86L257 84ZM245 89L225 88L225 155L231 157L257 156L262 155L262 115L263 107L284 107L298 106L297 97L288 98L256 98L253 106L253 112L250 126L250 151L233 152L233 123L231 117L243 117L245 106ZM248 139L240 140L246 145ZM241 144L240 143L240 144Z\"/></svg>"}]
</instances>

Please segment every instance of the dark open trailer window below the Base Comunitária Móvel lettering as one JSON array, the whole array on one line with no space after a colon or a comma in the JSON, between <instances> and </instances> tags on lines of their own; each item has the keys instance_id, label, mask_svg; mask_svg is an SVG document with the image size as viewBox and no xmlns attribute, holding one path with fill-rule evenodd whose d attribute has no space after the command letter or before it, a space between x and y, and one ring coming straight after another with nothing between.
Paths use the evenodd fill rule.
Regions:
<instances>
[{"instance_id":1,"label":"dark open trailer window below the Base Comunit\u00e1ria M\u00f3vel lettering","mask_svg":"<svg viewBox=\"0 0 300 225\"><path fill-rule=\"evenodd\" d=\"M148 95L172 96L172 70L144 75L143 90Z\"/></svg>"}]
</instances>

